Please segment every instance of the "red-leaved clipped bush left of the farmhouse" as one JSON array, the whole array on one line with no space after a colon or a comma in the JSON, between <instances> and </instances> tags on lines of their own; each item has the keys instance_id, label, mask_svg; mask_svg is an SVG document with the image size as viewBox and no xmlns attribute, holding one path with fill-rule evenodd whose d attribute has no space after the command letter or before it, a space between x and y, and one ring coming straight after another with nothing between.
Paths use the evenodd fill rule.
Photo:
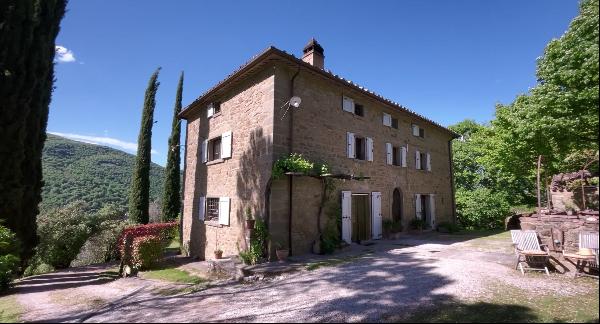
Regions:
<instances>
[{"instance_id":1,"label":"red-leaved clipped bush left of the farmhouse","mask_svg":"<svg viewBox=\"0 0 600 324\"><path fill-rule=\"evenodd\" d=\"M125 228L118 242L121 264L138 270L151 268L162 257L178 227L177 222L172 222Z\"/></svg>"}]
</instances>

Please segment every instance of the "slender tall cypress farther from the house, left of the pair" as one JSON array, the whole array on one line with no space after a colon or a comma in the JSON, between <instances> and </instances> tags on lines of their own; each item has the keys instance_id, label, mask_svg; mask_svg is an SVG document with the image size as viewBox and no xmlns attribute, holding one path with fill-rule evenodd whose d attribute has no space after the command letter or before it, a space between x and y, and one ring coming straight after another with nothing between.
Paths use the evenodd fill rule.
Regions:
<instances>
[{"instance_id":1,"label":"slender tall cypress farther from the house, left of the pair","mask_svg":"<svg viewBox=\"0 0 600 324\"><path fill-rule=\"evenodd\" d=\"M142 111L142 123L138 136L137 157L135 170L131 180L131 191L129 192L129 219L140 224L148 224L150 219L148 207L150 203L150 163L152 151L152 126L154 125L154 107L156 106L156 91L158 73L160 68L150 77L146 95L144 96L144 108Z\"/></svg>"}]
</instances>

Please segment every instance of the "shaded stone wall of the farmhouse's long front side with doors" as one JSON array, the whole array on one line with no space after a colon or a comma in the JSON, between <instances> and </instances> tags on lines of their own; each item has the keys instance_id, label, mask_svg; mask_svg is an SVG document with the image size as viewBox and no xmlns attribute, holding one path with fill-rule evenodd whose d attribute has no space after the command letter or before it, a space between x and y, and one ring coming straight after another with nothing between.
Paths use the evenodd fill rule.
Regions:
<instances>
[{"instance_id":1,"label":"shaded stone wall of the farmhouse's long front side with doors","mask_svg":"<svg viewBox=\"0 0 600 324\"><path fill-rule=\"evenodd\" d=\"M333 173L370 177L364 181L335 180L334 199L339 200L343 190L353 193L381 192L382 214L386 219L392 217L392 196L394 189L398 188L403 196L402 223L406 229L410 220L415 217L415 194L435 194L436 223L453 221L449 145L451 135L447 131L306 70L300 70L291 91L290 80L297 69L276 65L275 71L275 107L283 105L292 95L302 98L300 108L289 111L285 118L281 118L282 112L276 111L273 136L275 158L290 152L289 141L292 137L293 152L301 153L313 161L327 162ZM356 103L363 105L364 117L343 111L342 96L351 97ZM399 120L398 129L383 125L384 112ZM290 123L293 123L291 135ZM425 138L411 134L413 123L425 129ZM373 139L373 161L347 157L347 132ZM387 142L394 146L408 146L407 167L386 163ZM431 171L415 168L416 150L431 154ZM316 210L320 202L321 186L314 179L294 181L293 246L295 253L306 253L310 251L312 241L317 238ZM271 199L272 204L276 204L271 206L272 230L275 232L274 236L287 244L288 183L287 180L279 182L274 183Z\"/></svg>"}]
</instances>

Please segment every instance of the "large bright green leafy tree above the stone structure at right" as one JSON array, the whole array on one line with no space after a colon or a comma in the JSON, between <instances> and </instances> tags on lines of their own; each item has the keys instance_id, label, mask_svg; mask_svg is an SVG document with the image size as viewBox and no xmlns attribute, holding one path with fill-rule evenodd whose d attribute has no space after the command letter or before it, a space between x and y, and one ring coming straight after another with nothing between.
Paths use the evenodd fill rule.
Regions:
<instances>
[{"instance_id":1,"label":"large bright green leafy tree above the stone structure at right","mask_svg":"<svg viewBox=\"0 0 600 324\"><path fill-rule=\"evenodd\" d=\"M536 162L545 174L581 167L567 157L598 150L598 0L584 0L569 29L538 60L539 83L492 121L487 156L501 173L534 183Z\"/></svg>"}]
</instances>

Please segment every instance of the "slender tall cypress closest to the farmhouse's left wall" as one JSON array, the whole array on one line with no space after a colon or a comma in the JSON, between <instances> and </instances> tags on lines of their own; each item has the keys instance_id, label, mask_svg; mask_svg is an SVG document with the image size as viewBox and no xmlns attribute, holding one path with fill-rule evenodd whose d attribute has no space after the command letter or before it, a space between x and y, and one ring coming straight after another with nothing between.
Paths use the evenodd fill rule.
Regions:
<instances>
[{"instance_id":1,"label":"slender tall cypress closest to the farmhouse's left wall","mask_svg":"<svg viewBox=\"0 0 600 324\"><path fill-rule=\"evenodd\" d=\"M165 175L165 186L162 199L162 220L172 221L177 219L181 210L180 182L181 182L181 156L179 152L179 142L181 139L181 122L179 113L181 112L181 96L183 94L183 72L179 77L177 85L177 95L175 96L175 109L173 112L173 122L171 126L171 137L169 137L167 155L167 168Z\"/></svg>"}]
</instances>

